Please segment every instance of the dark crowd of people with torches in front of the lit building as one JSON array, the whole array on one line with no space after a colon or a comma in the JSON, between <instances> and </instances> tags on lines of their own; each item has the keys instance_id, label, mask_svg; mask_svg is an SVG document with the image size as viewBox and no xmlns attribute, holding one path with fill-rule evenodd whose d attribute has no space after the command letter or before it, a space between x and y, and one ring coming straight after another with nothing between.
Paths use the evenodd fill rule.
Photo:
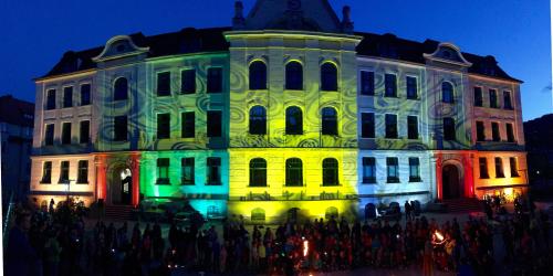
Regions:
<instances>
[{"instance_id":1,"label":"dark crowd of people with torches in front of the lit building","mask_svg":"<svg viewBox=\"0 0 553 276\"><path fill-rule=\"evenodd\" d=\"M65 203L20 212L4 254L6 275L296 275L363 267L494 275L498 265L512 275L542 275L553 264L549 217L533 209L442 223L411 212L393 222L328 217L276 226L234 217L173 223L168 231L158 223L116 225L84 215ZM498 248L502 259L494 258Z\"/></svg>"}]
</instances>

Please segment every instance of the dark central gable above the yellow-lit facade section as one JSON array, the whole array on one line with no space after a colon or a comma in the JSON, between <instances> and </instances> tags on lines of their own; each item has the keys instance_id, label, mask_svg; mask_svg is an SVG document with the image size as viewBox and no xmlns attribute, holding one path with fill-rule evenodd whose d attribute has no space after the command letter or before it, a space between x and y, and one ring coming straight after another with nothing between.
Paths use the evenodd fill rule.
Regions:
<instances>
[{"instance_id":1,"label":"dark central gable above the yellow-lit facade section","mask_svg":"<svg viewBox=\"0 0 553 276\"><path fill-rule=\"evenodd\" d=\"M327 0L258 0L243 29L342 32Z\"/></svg>"}]
</instances>

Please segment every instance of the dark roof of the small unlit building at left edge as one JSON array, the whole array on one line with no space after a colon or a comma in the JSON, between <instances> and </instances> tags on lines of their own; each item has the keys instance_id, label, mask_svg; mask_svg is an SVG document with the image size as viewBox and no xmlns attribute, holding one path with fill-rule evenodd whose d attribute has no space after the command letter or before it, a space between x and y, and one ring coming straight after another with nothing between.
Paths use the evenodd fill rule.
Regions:
<instances>
[{"instance_id":1,"label":"dark roof of the small unlit building at left edge","mask_svg":"<svg viewBox=\"0 0 553 276\"><path fill-rule=\"evenodd\" d=\"M12 95L0 97L0 123L33 127L34 104L17 99Z\"/></svg>"}]
</instances>

